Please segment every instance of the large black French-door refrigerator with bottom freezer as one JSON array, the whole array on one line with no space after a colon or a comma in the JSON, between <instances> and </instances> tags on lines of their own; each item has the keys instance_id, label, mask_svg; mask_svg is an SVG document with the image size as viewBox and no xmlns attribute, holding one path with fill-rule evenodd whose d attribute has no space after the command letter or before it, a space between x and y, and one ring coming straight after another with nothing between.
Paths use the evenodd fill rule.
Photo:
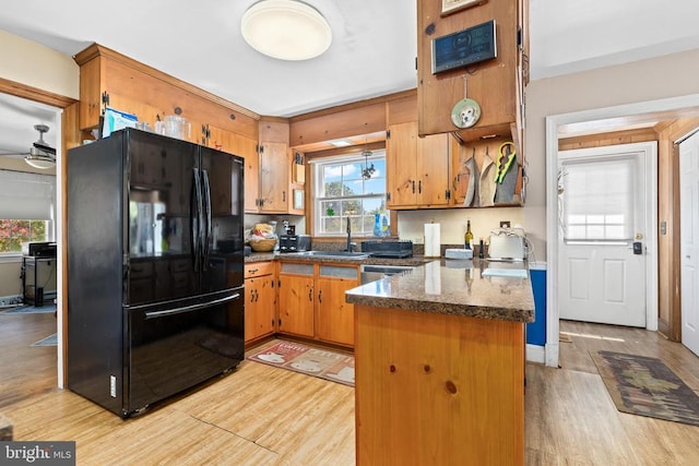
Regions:
<instances>
[{"instance_id":1,"label":"large black French-door refrigerator with bottom freezer","mask_svg":"<svg viewBox=\"0 0 699 466\"><path fill-rule=\"evenodd\" d=\"M244 160L135 129L68 152L68 387L127 418L244 359Z\"/></svg>"}]
</instances>

